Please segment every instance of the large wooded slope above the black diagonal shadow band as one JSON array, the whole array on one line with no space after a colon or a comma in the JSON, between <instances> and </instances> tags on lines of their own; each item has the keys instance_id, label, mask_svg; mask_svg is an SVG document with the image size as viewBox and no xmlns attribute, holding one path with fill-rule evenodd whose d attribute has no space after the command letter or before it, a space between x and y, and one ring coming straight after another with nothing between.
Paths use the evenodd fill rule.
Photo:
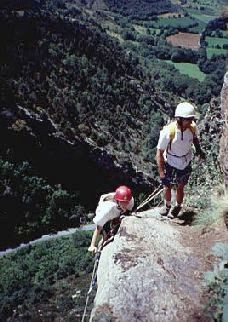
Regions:
<instances>
[{"instance_id":1,"label":"large wooded slope above the black diagonal shadow band","mask_svg":"<svg viewBox=\"0 0 228 322\"><path fill-rule=\"evenodd\" d=\"M162 98L137 58L76 10L62 15L1 17L2 101L46 113L68 139L90 138L143 166L143 142Z\"/></svg>"}]
</instances>

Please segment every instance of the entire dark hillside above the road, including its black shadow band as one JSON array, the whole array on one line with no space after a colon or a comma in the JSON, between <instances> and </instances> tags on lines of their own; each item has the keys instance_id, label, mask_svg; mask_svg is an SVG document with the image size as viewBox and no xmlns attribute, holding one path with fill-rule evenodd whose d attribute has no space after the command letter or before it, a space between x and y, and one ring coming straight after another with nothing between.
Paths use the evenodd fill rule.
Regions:
<instances>
[{"instance_id":1,"label":"entire dark hillside above the road, including its black shadow band","mask_svg":"<svg viewBox=\"0 0 228 322\"><path fill-rule=\"evenodd\" d=\"M137 195L151 189L161 109L170 105L137 58L80 9L48 2L0 18L4 247L9 236L78 225L81 205L94 209L120 183Z\"/></svg>"}]
</instances>

